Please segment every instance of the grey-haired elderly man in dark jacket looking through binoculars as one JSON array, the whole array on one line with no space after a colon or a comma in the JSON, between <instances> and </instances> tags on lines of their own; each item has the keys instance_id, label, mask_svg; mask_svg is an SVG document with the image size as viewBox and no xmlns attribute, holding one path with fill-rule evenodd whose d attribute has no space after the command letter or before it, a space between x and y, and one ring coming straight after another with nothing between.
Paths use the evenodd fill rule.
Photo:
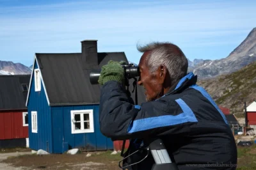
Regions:
<instances>
[{"instance_id":1,"label":"grey-haired elderly man in dark jacket looking through binoculars","mask_svg":"<svg viewBox=\"0 0 256 170\"><path fill-rule=\"evenodd\" d=\"M124 69L109 61L99 78L102 134L113 140L131 139L125 156L159 138L179 169L236 169L237 148L227 120L207 91L196 85L196 75L187 73L182 50L159 42L138 50L143 52L138 84L145 88L147 102L134 105L125 91ZM123 166L145 155L136 152ZM154 163L148 155L127 169L151 169Z\"/></svg>"}]
</instances>

